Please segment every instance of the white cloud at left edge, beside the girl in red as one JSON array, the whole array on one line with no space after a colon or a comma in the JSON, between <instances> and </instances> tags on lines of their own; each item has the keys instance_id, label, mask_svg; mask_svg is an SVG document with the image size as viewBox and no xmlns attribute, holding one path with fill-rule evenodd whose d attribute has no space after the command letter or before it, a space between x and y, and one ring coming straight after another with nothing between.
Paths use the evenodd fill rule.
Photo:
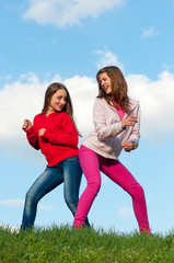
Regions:
<instances>
[{"instance_id":1,"label":"white cloud at left edge, beside the girl in red","mask_svg":"<svg viewBox=\"0 0 174 263\"><path fill-rule=\"evenodd\" d=\"M53 81L59 81L55 76ZM40 82L36 75L21 75L19 80L4 83L0 90L0 141L11 144L21 139L22 124L25 118L33 118L43 107L44 93L49 83ZM9 141L9 142L8 142Z\"/></svg>"}]
</instances>

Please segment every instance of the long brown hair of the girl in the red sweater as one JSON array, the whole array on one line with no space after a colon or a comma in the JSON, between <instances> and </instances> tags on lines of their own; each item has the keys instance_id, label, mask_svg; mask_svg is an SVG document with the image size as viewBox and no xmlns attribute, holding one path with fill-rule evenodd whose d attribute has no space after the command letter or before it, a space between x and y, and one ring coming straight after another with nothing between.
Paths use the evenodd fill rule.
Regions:
<instances>
[{"instance_id":1,"label":"long brown hair of the girl in the red sweater","mask_svg":"<svg viewBox=\"0 0 174 263\"><path fill-rule=\"evenodd\" d=\"M40 114L44 114L44 113L47 113L48 108L49 108L49 104L50 104L50 100L51 100L51 96L58 91L58 90L65 90L67 92L67 103L65 105L65 107L62 108L62 112L66 112L72 119L72 123L77 129L77 133L79 136L81 136L80 132L78 130L78 127L76 125L76 122L74 122L74 117L73 117L73 107L72 107L72 102L71 102L71 98L70 98L70 94L69 94L69 91L67 90L67 88L61 84L61 83L58 83L58 82L54 82L51 83L46 92L45 92L45 100L44 100L44 107L42 110L42 113Z\"/></svg>"}]
</instances>

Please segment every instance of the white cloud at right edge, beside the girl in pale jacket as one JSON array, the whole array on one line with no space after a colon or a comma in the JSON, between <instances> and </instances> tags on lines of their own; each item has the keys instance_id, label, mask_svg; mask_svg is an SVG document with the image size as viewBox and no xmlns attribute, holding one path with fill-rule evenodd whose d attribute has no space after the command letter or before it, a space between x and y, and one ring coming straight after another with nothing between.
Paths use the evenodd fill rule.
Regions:
<instances>
[{"instance_id":1,"label":"white cloud at right edge, beside the girl in pale jacket","mask_svg":"<svg viewBox=\"0 0 174 263\"><path fill-rule=\"evenodd\" d=\"M141 105L141 134L148 140L165 144L174 135L174 75L163 71L156 81L146 76L127 76L130 96Z\"/></svg>"}]
</instances>

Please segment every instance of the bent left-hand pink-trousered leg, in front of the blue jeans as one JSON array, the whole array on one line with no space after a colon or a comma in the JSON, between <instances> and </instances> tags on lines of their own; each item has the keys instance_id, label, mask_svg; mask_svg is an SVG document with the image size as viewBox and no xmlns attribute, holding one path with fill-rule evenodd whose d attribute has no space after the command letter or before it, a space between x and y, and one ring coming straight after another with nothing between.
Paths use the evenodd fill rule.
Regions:
<instances>
[{"instance_id":1,"label":"bent left-hand pink-trousered leg, in front of the blue jeans","mask_svg":"<svg viewBox=\"0 0 174 263\"><path fill-rule=\"evenodd\" d=\"M84 220L89 214L92 203L101 187L98 156L86 147L81 146L79 158L88 181L88 186L80 197L74 216L73 226L77 228L84 225Z\"/></svg>"}]
</instances>

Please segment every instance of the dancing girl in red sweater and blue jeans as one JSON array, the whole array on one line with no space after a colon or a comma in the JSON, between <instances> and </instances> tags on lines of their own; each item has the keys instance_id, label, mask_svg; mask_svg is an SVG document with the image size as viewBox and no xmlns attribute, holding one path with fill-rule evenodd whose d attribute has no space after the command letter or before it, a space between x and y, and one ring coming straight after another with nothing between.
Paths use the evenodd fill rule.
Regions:
<instances>
[{"instance_id":1,"label":"dancing girl in red sweater and blue jeans","mask_svg":"<svg viewBox=\"0 0 174 263\"><path fill-rule=\"evenodd\" d=\"M39 199L62 182L65 201L74 216L82 170L78 149L80 134L67 88L61 83L51 83L46 90L42 113L34 117L33 125L25 119L22 128L30 145L36 150L40 149L48 162L26 193L22 229L34 225Z\"/></svg>"}]
</instances>

